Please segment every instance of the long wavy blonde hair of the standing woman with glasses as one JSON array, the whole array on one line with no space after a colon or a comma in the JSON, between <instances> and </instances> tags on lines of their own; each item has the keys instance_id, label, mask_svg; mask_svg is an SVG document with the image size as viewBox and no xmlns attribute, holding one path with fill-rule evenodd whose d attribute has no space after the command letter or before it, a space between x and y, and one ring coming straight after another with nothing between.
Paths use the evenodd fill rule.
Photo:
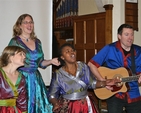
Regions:
<instances>
[{"instance_id":1,"label":"long wavy blonde hair of the standing woman with glasses","mask_svg":"<svg viewBox=\"0 0 141 113\"><path fill-rule=\"evenodd\" d=\"M29 14L22 14L21 16L19 16L19 18L17 19L15 25L13 26L13 37L19 36L19 35L22 34L22 30L21 30L21 28L20 28L20 25L22 24L23 20L24 20L26 17L30 17L31 20L33 21L32 16L29 15ZM34 21L33 21L33 22L34 22ZM34 28L33 28L32 33L30 34L30 37L31 37L32 39L37 38L37 37L35 36Z\"/></svg>"}]
</instances>

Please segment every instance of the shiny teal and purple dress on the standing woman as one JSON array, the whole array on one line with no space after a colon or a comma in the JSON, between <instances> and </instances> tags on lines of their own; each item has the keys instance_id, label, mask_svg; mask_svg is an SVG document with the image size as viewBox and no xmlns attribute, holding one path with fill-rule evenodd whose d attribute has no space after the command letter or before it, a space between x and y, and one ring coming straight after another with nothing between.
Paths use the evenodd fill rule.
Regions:
<instances>
[{"instance_id":1,"label":"shiny teal and purple dress on the standing woman","mask_svg":"<svg viewBox=\"0 0 141 113\"><path fill-rule=\"evenodd\" d=\"M25 66L19 68L19 70L26 78L28 113L52 113L52 105L47 99L47 88L38 71L38 67L46 68L41 66L41 62L44 60L44 54L40 40L35 40L35 50L30 50L19 37L12 38L9 45L17 45L26 50Z\"/></svg>"}]
</instances>

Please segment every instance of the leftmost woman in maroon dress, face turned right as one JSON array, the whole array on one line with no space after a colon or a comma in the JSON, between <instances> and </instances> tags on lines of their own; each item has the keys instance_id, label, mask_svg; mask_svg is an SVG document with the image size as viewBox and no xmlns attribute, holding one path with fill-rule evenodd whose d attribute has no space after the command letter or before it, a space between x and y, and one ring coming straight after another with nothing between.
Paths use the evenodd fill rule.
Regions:
<instances>
[{"instance_id":1,"label":"leftmost woman in maroon dress, face turned right","mask_svg":"<svg viewBox=\"0 0 141 113\"><path fill-rule=\"evenodd\" d=\"M24 76L18 68L24 66L25 50L6 47L0 57L0 113L27 113Z\"/></svg>"}]
</instances>

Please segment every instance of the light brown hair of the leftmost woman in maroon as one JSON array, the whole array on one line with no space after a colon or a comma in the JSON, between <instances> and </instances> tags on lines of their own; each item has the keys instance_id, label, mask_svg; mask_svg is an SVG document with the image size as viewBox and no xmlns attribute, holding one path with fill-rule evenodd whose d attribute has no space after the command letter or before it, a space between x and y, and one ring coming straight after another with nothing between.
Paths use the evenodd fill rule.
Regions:
<instances>
[{"instance_id":1,"label":"light brown hair of the leftmost woman in maroon","mask_svg":"<svg viewBox=\"0 0 141 113\"><path fill-rule=\"evenodd\" d=\"M0 67L7 66L10 63L9 58L15 53L24 52L26 53L25 49L19 47L19 46L7 46L2 52L2 55L0 56Z\"/></svg>"}]
</instances>

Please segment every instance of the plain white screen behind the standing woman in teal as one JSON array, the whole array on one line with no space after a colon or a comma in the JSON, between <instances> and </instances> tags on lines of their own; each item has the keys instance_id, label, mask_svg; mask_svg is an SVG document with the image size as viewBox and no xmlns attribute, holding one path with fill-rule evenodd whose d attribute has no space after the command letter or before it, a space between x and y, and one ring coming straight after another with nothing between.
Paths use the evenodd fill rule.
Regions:
<instances>
[{"instance_id":1,"label":"plain white screen behind the standing woman in teal","mask_svg":"<svg viewBox=\"0 0 141 113\"><path fill-rule=\"evenodd\" d=\"M0 0L0 54L12 38L12 28L17 18L24 13L32 15L35 33L42 42L45 59L52 58L52 1L51 0ZM39 69L48 86L52 67Z\"/></svg>"}]
</instances>

